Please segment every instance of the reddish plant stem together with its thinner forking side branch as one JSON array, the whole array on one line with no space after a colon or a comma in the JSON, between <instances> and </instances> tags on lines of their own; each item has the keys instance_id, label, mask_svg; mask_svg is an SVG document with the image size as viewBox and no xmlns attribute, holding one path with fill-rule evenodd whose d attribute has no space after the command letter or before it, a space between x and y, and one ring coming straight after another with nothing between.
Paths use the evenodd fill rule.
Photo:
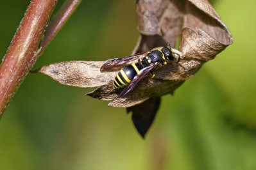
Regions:
<instances>
[{"instance_id":1,"label":"reddish plant stem together with its thinner forking side branch","mask_svg":"<svg viewBox=\"0 0 256 170\"><path fill-rule=\"evenodd\" d=\"M81 2L81 0L65 1L46 30L57 1L32 0L28 6L0 66L0 118L37 58ZM44 40L40 43L44 33Z\"/></svg>"}]
</instances>

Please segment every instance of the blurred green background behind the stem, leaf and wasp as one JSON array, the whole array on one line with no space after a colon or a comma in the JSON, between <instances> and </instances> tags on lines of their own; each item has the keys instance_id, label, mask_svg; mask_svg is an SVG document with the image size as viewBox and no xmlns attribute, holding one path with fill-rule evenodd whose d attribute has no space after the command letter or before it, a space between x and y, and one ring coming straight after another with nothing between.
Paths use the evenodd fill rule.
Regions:
<instances>
[{"instance_id":1,"label":"blurred green background behind the stem, leaf and wasp","mask_svg":"<svg viewBox=\"0 0 256 170\"><path fill-rule=\"evenodd\" d=\"M234 43L162 97L146 140L92 89L29 74L0 121L0 169L256 169L256 1L213 2ZM29 3L0 1L1 58ZM136 27L135 1L83 1L33 68L128 56Z\"/></svg>"}]
</instances>

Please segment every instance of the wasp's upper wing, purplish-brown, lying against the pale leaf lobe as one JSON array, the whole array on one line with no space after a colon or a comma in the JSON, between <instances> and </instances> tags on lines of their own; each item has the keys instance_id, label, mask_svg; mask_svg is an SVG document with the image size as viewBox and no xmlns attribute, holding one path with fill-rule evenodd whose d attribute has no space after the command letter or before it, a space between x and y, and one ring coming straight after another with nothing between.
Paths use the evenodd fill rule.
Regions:
<instances>
[{"instance_id":1,"label":"wasp's upper wing, purplish-brown, lying against the pale leaf lobe","mask_svg":"<svg viewBox=\"0 0 256 170\"><path fill-rule=\"evenodd\" d=\"M115 58L107 61L104 65L101 66L101 72L113 72L119 71L126 65L131 65L138 61L138 59L144 58L146 53L144 54L136 54L134 56L128 56L124 58Z\"/></svg>"}]
</instances>

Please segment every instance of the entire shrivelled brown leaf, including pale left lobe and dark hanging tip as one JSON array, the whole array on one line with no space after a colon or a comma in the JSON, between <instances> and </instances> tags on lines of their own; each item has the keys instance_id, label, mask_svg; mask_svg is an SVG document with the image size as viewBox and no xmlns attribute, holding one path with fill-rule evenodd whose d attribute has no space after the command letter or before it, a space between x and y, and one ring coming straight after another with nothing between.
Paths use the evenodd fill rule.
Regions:
<instances>
[{"instance_id":1,"label":"entire shrivelled brown leaf, including pale left lobe and dark hanging tip","mask_svg":"<svg viewBox=\"0 0 256 170\"><path fill-rule=\"evenodd\" d=\"M112 100L109 105L114 107L130 107L128 111L137 115L134 117L139 115L142 118L138 114L144 107L142 102L153 97L147 104L158 108L155 98L173 94L186 79L200 70L203 63L214 59L233 41L230 31L207 0L139 0L137 16L141 35L133 54L166 46L167 42L175 47L180 37L180 51L173 49L180 54L180 62L154 70L154 79L145 77L127 95L117 98L122 91L112 85L117 72L100 72L103 61L66 61L44 66L37 72L70 86L98 87L87 95L99 100ZM153 117L145 119L146 130L151 125L148 120L153 120L155 112L149 114ZM139 126L136 127L138 129ZM146 131L140 133L144 135Z\"/></svg>"}]
</instances>

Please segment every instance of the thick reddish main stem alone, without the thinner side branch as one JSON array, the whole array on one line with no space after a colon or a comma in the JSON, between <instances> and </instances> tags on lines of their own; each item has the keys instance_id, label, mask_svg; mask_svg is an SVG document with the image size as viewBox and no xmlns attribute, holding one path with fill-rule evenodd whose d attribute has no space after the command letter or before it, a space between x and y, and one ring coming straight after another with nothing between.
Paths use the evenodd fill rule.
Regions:
<instances>
[{"instance_id":1,"label":"thick reddish main stem alone, without the thinner side branch","mask_svg":"<svg viewBox=\"0 0 256 170\"><path fill-rule=\"evenodd\" d=\"M41 37L57 0L32 0L0 66L0 118L35 63Z\"/></svg>"}]
</instances>

